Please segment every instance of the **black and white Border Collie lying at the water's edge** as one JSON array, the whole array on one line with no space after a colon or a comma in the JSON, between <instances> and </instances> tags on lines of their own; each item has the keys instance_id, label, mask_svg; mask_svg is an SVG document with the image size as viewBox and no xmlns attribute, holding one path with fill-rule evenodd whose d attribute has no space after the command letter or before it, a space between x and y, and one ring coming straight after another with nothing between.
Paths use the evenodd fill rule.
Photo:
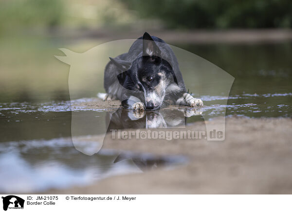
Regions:
<instances>
[{"instance_id":1,"label":"black and white Border Collie lying at the water's edge","mask_svg":"<svg viewBox=\"0 0 292 212\"><path fill-rule=\"evenodd\" d=\"M121 87L122 86L122 87ZM186 92L178 61L170 46L145 33L128 53L110 57L104 75L104 100L119 99L122 106L134 109L159 109L164 102L203 106Z\"/></svg>"}]
</instances>

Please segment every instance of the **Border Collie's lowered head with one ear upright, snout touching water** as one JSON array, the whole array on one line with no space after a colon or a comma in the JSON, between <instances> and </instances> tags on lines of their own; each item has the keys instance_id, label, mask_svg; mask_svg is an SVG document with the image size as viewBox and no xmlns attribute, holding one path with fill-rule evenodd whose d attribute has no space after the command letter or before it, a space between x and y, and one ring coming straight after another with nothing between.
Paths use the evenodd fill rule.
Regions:
<instances>
[{"instance_id":1,"label":"Border Collie's lowered head with one ear upright, snout touching water","mask_svg":"<svg viewBox=\"0 0 292 212\"><path fill-rule=\"evenodd\" d=\"M152 37L143 35L143 56L132 63L110 58L122 71L117 77L120 84L129 90L142 92L146 109L158 109L170 85L178 87L171 65L162 57L161 50Z\"/></svg>"}]
</instances>

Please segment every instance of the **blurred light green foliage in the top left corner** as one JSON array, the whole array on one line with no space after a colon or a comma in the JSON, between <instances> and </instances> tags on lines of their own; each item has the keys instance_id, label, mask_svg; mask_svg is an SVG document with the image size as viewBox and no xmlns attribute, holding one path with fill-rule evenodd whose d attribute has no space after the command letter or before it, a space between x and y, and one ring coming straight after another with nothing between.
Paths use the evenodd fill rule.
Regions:
<instances>
[{"instance_id":1,"label":"blurred light green foliage in the top left corner","mask_svg":"<svg viewBox=\"0 0 292 212\"><path fill-rule=\"evenodd\" d=\"M63 18L62 0L0 0L0 33L26 27L50 27Z\"/></svg>"}]
</instances>

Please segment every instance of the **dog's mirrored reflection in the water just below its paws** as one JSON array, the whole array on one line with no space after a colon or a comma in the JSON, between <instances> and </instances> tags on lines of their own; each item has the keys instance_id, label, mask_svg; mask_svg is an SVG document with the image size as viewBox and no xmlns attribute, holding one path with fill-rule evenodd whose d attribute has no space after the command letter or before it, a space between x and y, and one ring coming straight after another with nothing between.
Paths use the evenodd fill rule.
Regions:
<instances>
[{"instance_id":1,"label":"dog's mirrored reflection in the water just below its paws","mask_svg":"<svg viewBox=\"0 0 292 212\"><path fill-rule=\"evenodd\" d=\"M184 127L187 118L201 115L196 109L162 109L157 111L128 110L119 108L115 113L107 114L110 130L144 129L144 128L173 128Z\"/></svg>"}]
</instances>

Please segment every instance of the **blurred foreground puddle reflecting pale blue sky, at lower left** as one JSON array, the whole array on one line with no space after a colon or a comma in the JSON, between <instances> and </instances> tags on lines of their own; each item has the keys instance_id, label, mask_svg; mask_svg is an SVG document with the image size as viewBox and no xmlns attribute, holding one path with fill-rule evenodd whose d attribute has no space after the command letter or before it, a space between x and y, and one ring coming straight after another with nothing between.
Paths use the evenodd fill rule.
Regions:
<instances>
[{"instance_id":1,"label":"blurred foreground puddle reflecting pale blue sky, at lower left","mask_svg":"<svg viewBox=\"0 0 292 212\"><path fill-rule=\"evenodd\" d=\"M91 143L83 145L91 146ZM126 151L101 150L87 156L78 152L70 139L10 141L0 143L0 192L35 193L48 189L85 186L128 173L184 164L184 157L156 157Z\"/></svg>"}]
</instances>

